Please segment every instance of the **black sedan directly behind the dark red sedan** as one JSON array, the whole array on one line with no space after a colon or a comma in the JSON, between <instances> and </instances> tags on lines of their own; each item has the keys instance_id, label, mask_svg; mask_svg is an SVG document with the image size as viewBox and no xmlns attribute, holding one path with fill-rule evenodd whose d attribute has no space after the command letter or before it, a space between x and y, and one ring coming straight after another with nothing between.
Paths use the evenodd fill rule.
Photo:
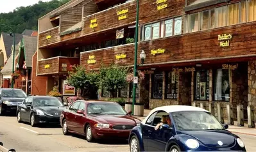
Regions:
<instances>
[{"instance_id":1,"label":"black sedan directly behind the dark red sedan","mask_svg":"<svg viewBox=\"0 0 256 152\"><path fill-rule=\"evenodd\" d=\"M29 122L31 126L41 123L60 124L60 114L65 109L58 98L53 96L28 96L17 107L17 121Z\"/></svg>"}]
</instances>

